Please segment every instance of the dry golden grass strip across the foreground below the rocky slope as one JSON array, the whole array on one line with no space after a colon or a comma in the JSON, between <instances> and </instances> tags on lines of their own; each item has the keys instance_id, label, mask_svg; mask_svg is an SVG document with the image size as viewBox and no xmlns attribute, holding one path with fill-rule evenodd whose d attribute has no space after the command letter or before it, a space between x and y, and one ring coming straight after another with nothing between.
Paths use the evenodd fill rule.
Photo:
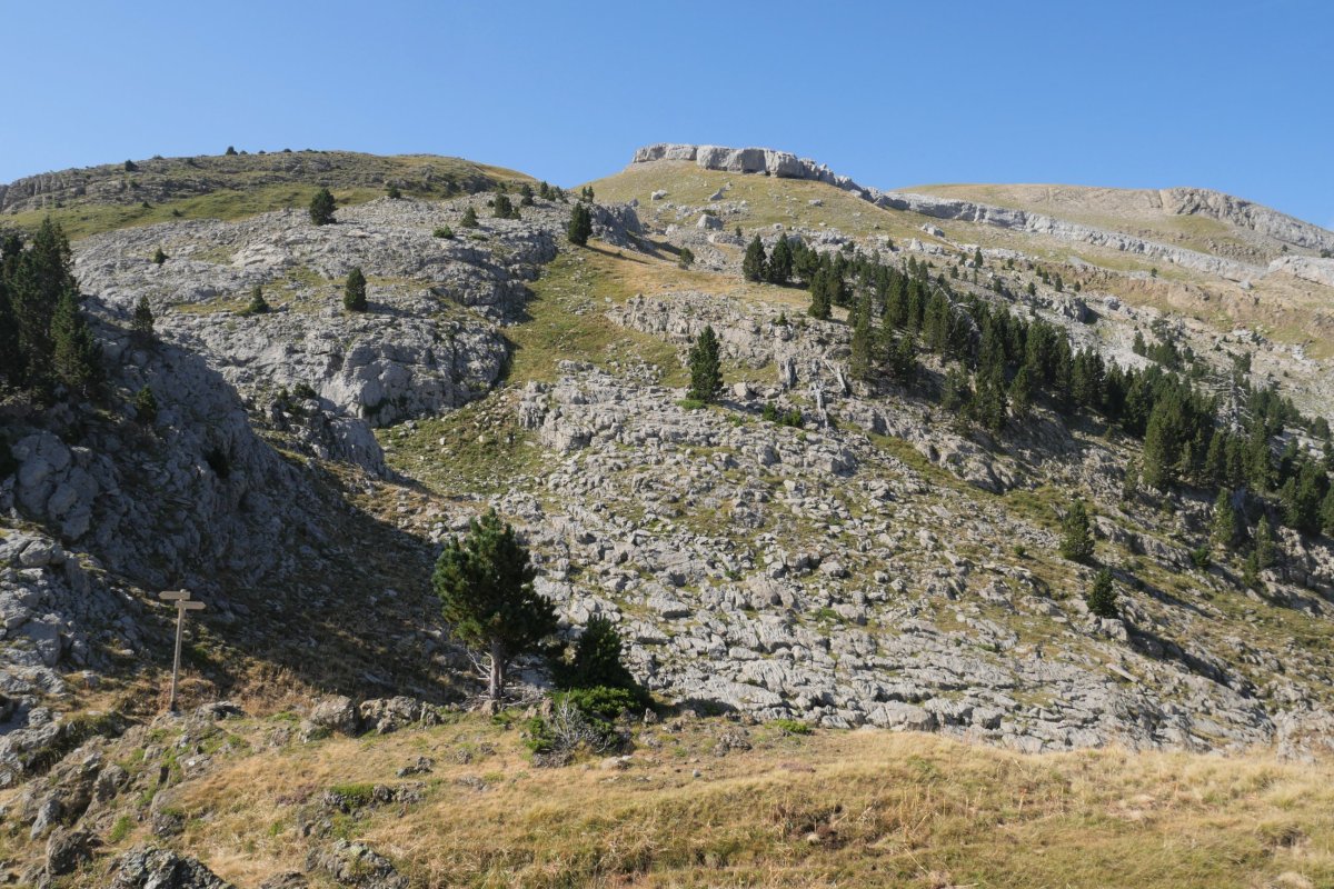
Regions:
<instances>
[{"instance_id":1,"label":"dry golden grass strip across the foreground below the rocky slope","mask_svg":"<svg viewBox=\"0 0 1334 889\"><path fill-rule=\"evenodd\" d=\"M1334 768L1267 753L1025 756L756 726L754 749L718 757L735 726L687 720L642 729L624 769L538 769L479 717L273 748L277 725L227 724L252 752L167 792L184 850L241 886L300 869L297 821L324 789L398 784L419 756L436 761L407 778L420 804L334 816L415 886L1334 885Z\"/></svg>"}]
</instances>

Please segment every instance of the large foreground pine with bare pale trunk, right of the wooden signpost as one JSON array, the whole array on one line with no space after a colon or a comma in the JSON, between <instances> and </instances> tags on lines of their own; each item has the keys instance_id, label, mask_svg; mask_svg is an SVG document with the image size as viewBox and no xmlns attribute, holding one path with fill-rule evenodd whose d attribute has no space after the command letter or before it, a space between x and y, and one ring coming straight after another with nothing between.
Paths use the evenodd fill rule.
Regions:
<instances>
[{"instance_id":1,"label":"large foreground pine with bare pale trunk, right of the wooden signpost","mask_svg":"<svg viewBox=\"0 0 1334 889\"><path fill-rule=\"evenodd\" d=\"M556 610L532 586L528 549L495 510L468 522L468 533L446 542L431 585L456 640L486 665L487 697L504 697L515 657L536 652L556 632Z\"/></svg>"}]
</instances>

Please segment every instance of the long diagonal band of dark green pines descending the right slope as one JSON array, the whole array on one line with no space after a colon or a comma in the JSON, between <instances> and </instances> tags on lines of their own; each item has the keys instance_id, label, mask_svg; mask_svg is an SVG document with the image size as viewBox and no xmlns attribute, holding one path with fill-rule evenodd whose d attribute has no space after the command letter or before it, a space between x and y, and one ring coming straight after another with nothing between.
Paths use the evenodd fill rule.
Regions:
<instances>
[{"instance_id":1,"label":"long diagonal band of dark green pines descending the right slope","mask_svg":"<svg viewBox=\"0 0 1334 889\"><path fill-rule=\"evenodd\" d=\"M859 379L908 385L919 351L931 352L946 365L940 405L964 423L1000 432L1038 401L1065 416L1097 416L1143 440L1138 470L1145 485L1245 488L1271 501L1285 525L1334 534L1329 425L1303 417L1273 387L1253 388L1245 364L1227 381L1226 399L1201 385L1198 373L1178 373L1193 356L1170 341L1145 348L1142 353L1163 361L1143 371L1107 364L1093 349L1071 347L1053 324L952 291L943 272L932 277L916 257L895 267L879 255L818 253L786 236L766 253L755 237L742 271L748 280L807 287L816 319L830 317L834 305L847 307L850 372ZM992 288L1009 296L999 280ZM1233 409L1237 403L1246 409ZM1323 439L1323 454L1299 446L1297 429Z\"/></svg>"}]
</instances>

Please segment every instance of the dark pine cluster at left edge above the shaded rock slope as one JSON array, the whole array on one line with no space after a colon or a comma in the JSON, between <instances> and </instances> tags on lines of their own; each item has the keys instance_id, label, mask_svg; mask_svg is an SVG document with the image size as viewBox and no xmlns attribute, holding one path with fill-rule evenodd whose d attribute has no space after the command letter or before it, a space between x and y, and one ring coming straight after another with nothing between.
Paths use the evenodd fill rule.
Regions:
<instances>
[{"instance_id":1,"label":"dark pine cluster at left edge above the shaded rock slope","mask_svg":"<svg viewBox=\"0 0 1334 889\"><path fill-rule=\"evenodd\" d=\"M91 397L101 381L97 343L81 309L69 240L47 219L25 244L0 237L0 385L48 399Z\"/></svg>"}]
</instances>

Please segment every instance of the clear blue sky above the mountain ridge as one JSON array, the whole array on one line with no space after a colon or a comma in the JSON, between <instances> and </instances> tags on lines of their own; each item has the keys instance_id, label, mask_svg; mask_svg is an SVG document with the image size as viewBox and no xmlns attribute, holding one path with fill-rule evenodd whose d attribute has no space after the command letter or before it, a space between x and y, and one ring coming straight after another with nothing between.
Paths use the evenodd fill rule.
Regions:
<instances>
[{"instance_id":1,"label":"clear blue sky above the mountain ridge","mask_svg":"<svg viewBox=\"0 0 1334 889\"><path fill-rule=\"evenodd\" d=\"M0 0L0 181L236 145L571 185L699 141L884 188L1201 185L1334 227L1330 0Z\"/></svg>"}]
</instances>

